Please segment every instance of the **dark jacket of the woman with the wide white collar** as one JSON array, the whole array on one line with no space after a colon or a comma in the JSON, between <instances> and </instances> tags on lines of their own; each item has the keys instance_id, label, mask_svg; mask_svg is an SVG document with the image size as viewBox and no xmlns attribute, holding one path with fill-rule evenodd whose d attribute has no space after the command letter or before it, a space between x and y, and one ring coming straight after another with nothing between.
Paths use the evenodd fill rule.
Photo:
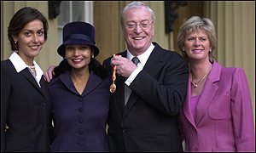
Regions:
<instances>
[{"instance_id":1,"label":"dark jacket of the woman with the wide white collar","mask_svg":"<svg viewBox=\"0 0 256 153\"><path fill-rule=\"evenodd\" d=\"M49 151L50 99L40 83L27 68L17 73L9 59L1 62L1 151Z\"/></svg>"}]
</instances>

